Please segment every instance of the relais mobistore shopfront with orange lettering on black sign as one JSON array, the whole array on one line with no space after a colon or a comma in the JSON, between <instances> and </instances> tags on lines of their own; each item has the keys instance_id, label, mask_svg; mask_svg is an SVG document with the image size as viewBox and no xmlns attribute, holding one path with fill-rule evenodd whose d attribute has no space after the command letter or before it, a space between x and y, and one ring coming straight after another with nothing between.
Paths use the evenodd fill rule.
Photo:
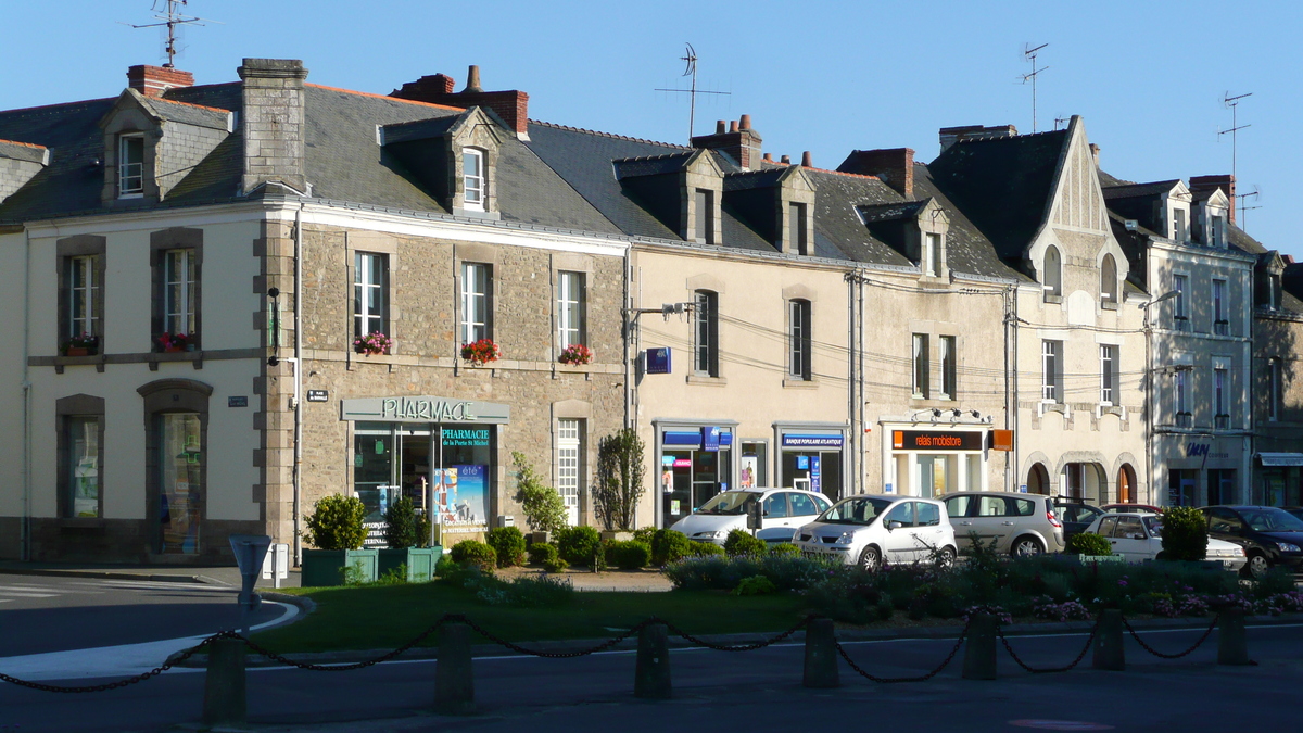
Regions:
<instances>
[{"instance_id":1,"label":"relais mobistore shopfront with orange lettering on black sign","mask_svg":"<svg viewBox=\"0 0 1303 733\"><path fill-rule=\"evenodd\" d=\"M938 497L989 490L986 426L883 423L882 428L882 493Z\"/></svg>"}]
</instances>

